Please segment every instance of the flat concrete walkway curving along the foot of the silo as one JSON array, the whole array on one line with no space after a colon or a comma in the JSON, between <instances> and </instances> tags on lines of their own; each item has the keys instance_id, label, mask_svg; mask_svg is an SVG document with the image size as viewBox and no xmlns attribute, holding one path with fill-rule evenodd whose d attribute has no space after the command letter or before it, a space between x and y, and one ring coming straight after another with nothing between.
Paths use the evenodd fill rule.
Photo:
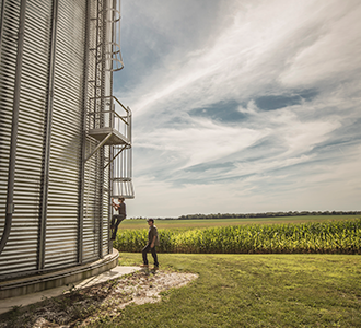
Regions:
<instances>
[{"instance_id":1,"label":"flat concrete walkway curving along the foot of the silo","mask_svg":"<svg viewBox=\"0 0 361 328\"><path fill-rule=\"evenodd\" d=\"M26 306L30 304L34 304L37 302L43 301L44 298L51 298L55 296L59 296L69 292L69 290L74 286L75 289L85 289L91 285L95 285L107 280L116 279L121 276L132 273L135 271L139 271L141 268L139 267L115 267L109 271L103 272L101 274L88 278L82 281L78 281L71 283L70 285L62 285L59 288L45 290L42 292L16 296L16 297L9 297L5 300L0 300L0 314L11 311L14 306Z\"/></svg>"}]
</instances>

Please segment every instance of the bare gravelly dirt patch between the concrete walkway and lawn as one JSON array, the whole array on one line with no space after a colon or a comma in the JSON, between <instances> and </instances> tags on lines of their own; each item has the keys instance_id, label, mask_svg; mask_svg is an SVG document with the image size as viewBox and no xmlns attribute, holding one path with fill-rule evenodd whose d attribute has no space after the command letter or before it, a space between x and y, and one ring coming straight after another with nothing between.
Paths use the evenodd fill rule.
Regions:
<instances>
[{"instance_id":1,"label":"bare gravelly dirt patch between the concrete walkway and lawn","mask_svg":"<svg viewBox=\"0 0 361 328\"><path fill-rule=\"evenodd\" d=\"M16 307L0 316L2 327L84 327L109 323L129 304L155 303L161 292L180 288L195 280L194 273L138 271L83 290Z\"/></svg>"}]
</instances>

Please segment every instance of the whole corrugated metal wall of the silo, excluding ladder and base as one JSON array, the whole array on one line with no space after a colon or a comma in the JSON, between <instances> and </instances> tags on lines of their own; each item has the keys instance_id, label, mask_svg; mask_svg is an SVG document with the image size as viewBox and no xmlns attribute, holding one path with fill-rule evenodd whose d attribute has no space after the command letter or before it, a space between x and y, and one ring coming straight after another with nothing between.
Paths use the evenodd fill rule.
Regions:
<instances>
[{"instance_id":1,"label":"whole corrugated metal wall of the silo, excluding ladder and base","mask_svg":"<svg viewBox=\"0 0 361 328\"><path fill-rule=\"evenodd\" d=\"M95 8L96 1L89 1ZM27 1L15 165L13 224L0 256L0 278L63 268L108 254L108 186L98 152L81 180L84 78L84 0L59 0L54 77L44 268L39 267L39 209L43 188L46 102L53 1ZM0 67L0 234L4 227L12 122L19 1L7 1ZM90 36L92 38L92 36ZM90 58L90 65L94 62ZM93 68L94 70L94 68ZM89 72L92 72L90 67ZM88 90L92 96L92 90ZM86 139L88 149L96 144ZM107 173L106 173L107 174ZM84 201L80 200L84 188ZM102 195L101 195L102 191ZM103 200L103 201L102 201ZM80 208L83 207L83 220ZM103 221L104 226L101 226ZM80 226L79 224L82 223ZM83 231L83 234L79 233ZM79 236L83 235L82 239ZM101 248L100 248L101 246ZM79 257L82 247L82 258Z\"/></svg>"}]
</instances>

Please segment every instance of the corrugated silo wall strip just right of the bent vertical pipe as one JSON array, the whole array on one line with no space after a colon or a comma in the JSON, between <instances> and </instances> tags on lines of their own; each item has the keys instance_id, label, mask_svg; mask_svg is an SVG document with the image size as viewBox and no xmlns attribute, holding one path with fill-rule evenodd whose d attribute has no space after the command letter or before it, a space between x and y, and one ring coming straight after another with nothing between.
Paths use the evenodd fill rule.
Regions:
<instances>
[{"instance_id":1,"label":"corrugated silo wall strip just right of the bent vertical pipe","mask_svg":"<svg viewBox=\"0 0 361 328\"><path fill-rule=\"evenodd\" d=\"M10 7L13 5L11 3ZM26 7L18 121L15 211L11 234L1 255L7 271L1 273L19 274L22 271L33 271L37 263L38 201L42 184L50 12L51 3L46 0L39 1L36 7L33 2L28 2Z\"/></svg>"}]
</instances>

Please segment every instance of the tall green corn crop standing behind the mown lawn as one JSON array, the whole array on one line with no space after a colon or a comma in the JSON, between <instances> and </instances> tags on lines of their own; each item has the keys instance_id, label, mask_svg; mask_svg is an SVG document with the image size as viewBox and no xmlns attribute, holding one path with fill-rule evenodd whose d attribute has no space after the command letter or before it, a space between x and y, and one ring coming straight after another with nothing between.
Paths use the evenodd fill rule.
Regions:
<instances>
[{"instance_id":1,"label":"tall green corn crop standing behind the mown lawn","mask_svg":"<svg viewBox=\"0 0 361 328\"><path fill-rule=\"evenodd\" d=\"M361 254L361 219L301 224L251 224L189 231L159 230L159 253ZM123 230L114 247L140 251L148 230Z\"/></svg>"}]
</instances>

